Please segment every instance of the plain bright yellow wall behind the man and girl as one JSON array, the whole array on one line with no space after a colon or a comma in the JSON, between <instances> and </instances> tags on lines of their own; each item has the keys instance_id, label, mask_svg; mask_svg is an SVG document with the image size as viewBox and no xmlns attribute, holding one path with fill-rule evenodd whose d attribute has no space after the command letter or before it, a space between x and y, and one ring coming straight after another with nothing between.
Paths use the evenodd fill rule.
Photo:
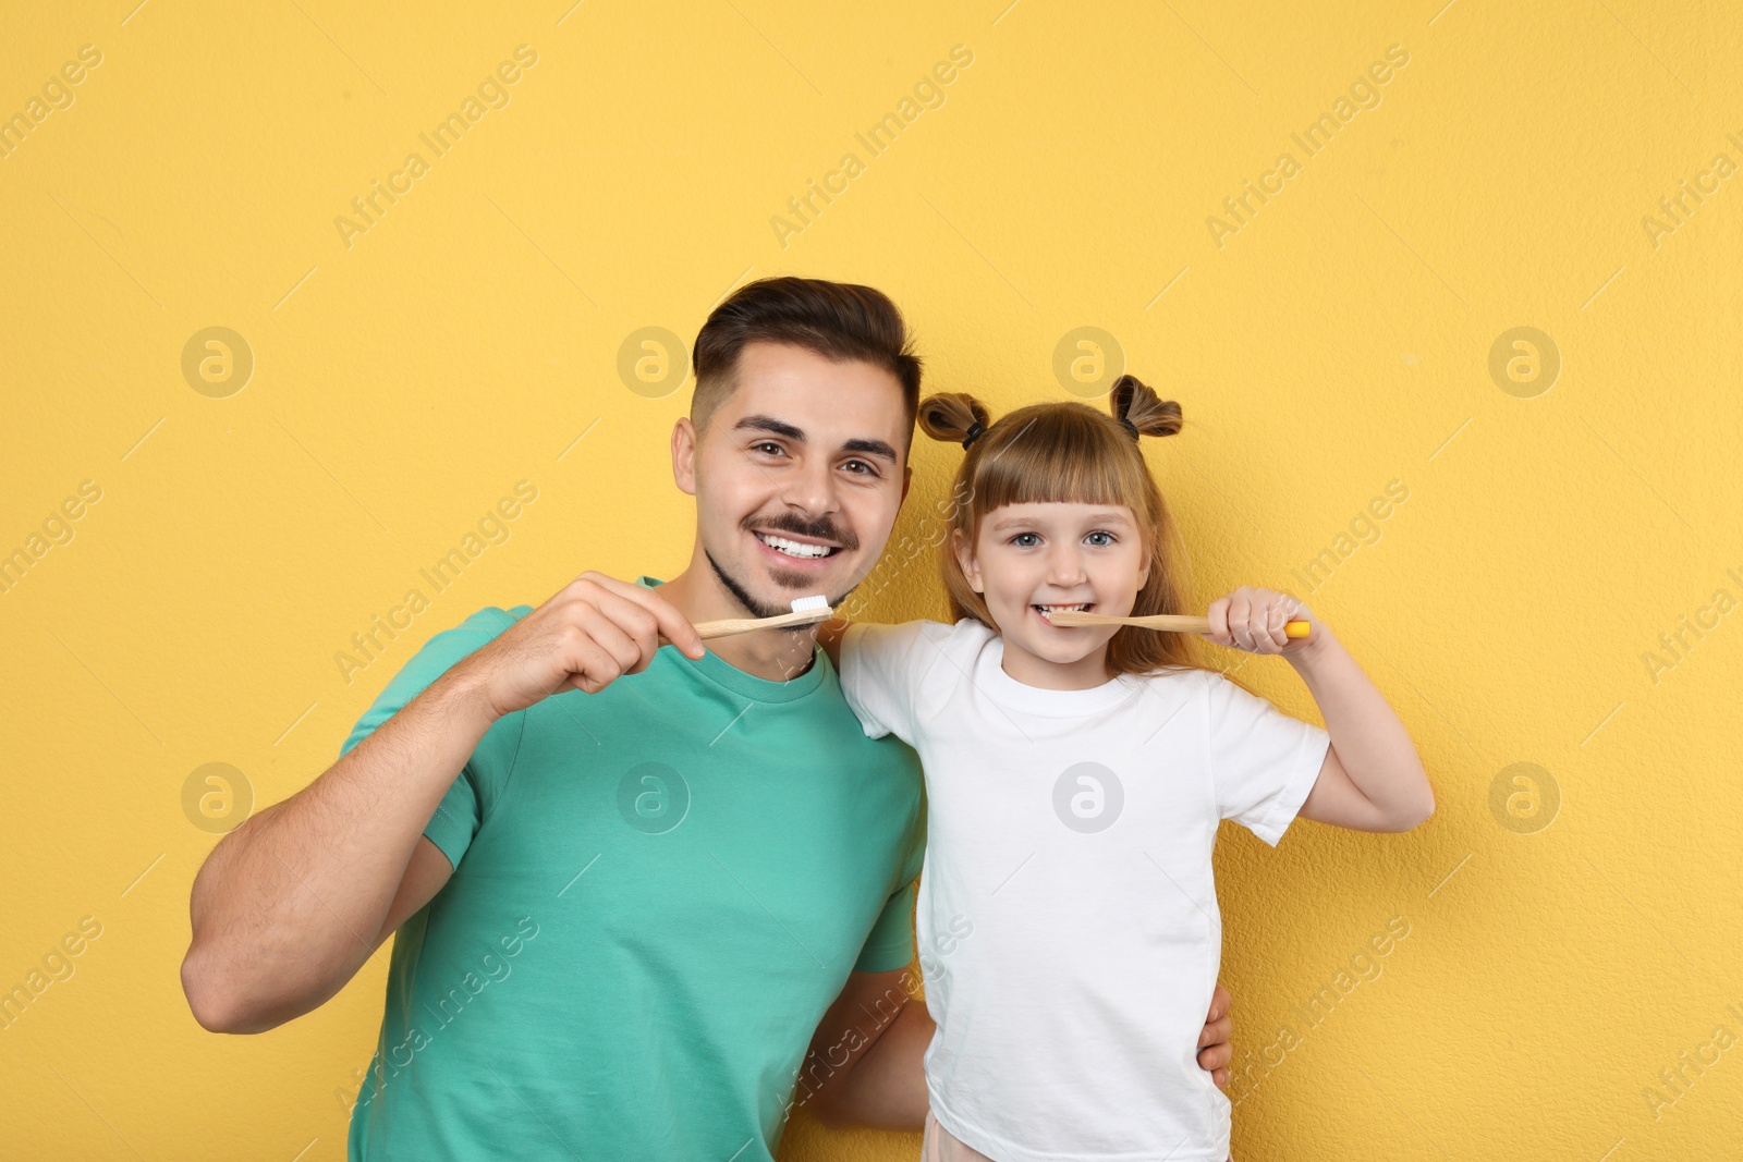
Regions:
<instances>
[{"instance_id":1,"label":"plain bright yellow wall behind the man and girl","mask_svg":"<svg viewBox=\"0 0 1743 1162\"><path fill-rule=\"evenodd\" d=\"M1658 246L1642 225L1743 162L1731 5L132 3L12 0L0 37L5 117L103 54L0 160L0 552L103 490L0 594L0 986L103 925L0 1033L0 1155L343 1157L385 951L274 1033L200 1031L176 967L214 836L183 784L223 761L277 801L436 631L584 568L676 571L688 390L629 390L619 345L690 341L779 272L889 291L927 385L1000 409L1067 397L1060 338L1112 333L1185 411L1150 453L1199 603L1295 591L1410 726L1421 831L1218 847L1238 1159L1736 1148L1743 1042L1673 1105L1644 1092L1743 1035L1743 613L1644 659L1743 596L1743 178ZM418 134L521 44L511 103L432 157ZM959 44L945 105L872 159L854 134ZM1380 105L1307 159L1290 134L1394 44ZM410 152L429 172L347 247L335 218ZM783 246L770 218L847 152L865 172ZM1218 247L1206 218L1283 152L1300 172ZM254 355L223 399L181 375L207 326ZM1530 399L1489 371L1516 326L1562 357ZM919 448L919 498L955 456ZM347 685L350 634L521 479L509 540ZM1309 592L1292 570L1394 479L1380 538ZM866 615L939 611L922 552ZM1285 664L1241 678L1318 721ZM1490 808L1513 763L1558 789L1548 826ZM1391 916L1380 976L1255 1064ZM917 1145L802 1117L783 1157Z\"/></svg>"}]
</instances>

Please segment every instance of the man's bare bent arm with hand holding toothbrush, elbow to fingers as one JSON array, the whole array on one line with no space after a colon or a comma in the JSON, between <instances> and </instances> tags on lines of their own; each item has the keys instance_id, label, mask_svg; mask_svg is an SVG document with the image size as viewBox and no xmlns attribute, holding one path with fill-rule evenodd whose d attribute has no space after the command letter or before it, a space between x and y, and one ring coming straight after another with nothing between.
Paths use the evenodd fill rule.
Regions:
<instances>
[{"instance_id":1,"label":"man's bare bent arm with hand holding toothbrush, elbow to fingers","mask_svg":"<svg viewBox=\"0 0 1743 1162\"><path fill-rule=\"evenodd\" d=\"M563 688L603 690L659 638L702 657L664 598L582 573L448 669L319 779L249 819L193 880L181 988L213 1031L258 1033L326 1002L448 880L424 838L498 718Z\"/></svg>"}]
</instances>

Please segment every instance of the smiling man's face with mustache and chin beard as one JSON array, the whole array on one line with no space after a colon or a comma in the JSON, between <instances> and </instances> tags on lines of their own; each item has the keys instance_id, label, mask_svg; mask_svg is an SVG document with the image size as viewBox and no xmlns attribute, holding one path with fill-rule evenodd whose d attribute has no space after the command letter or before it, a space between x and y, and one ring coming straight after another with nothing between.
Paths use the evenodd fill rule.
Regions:
<instances>
[{"instance_id":1,"label":"smiling man's face with mustache and chin beard","mask_svg":"<svg viewBox=\"0 0 1743 1162\"><path fill-rule=\"evenodd\" d=\"M673 432L678 488L722 584L756 617L865 580L908 493L901 383L866 362L748 343L699 436Z\"/></svg>"}]
</instances>

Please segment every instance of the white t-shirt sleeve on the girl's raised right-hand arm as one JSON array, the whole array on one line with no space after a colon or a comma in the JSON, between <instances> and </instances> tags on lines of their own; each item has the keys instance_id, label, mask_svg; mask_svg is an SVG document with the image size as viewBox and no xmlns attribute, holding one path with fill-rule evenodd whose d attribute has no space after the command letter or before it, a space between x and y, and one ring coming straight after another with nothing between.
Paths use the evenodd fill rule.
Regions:
<instances>
[{"instance_id":1,"label":"white t-shirt sleeve on the girl's raised right-hand arm","mask_svg":"<svg viewBox=\"0 0 1743 1162\"><path fill-rule=\"evenodd\" d=\"M1332 735L1210 674L1210 768L1217 810L1271 847L1300 812Z\"/></svg>"}]
</instances>

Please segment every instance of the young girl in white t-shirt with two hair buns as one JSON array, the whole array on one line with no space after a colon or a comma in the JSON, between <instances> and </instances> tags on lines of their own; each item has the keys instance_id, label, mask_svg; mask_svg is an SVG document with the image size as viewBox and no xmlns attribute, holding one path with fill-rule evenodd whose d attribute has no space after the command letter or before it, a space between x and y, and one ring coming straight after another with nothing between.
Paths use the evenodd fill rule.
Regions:
<instances>
[{"instance_id":1,"label":"young girl in white t-shirt with two hair buns","mask_svg":"<svg viewBox=\"0 0 1743 1162\"><path fill-rule=\"evenodd\" d=\"M1407 831L1434 808L1403 725L1295 598L1236 589L1204 636L1288 659L1328 730L1204 667L1190 634L1048 620L1194 611L1138 449L1180 425L1133 376L1112 416L920 404L927 436L967 449L943 545L955 624L851 625L838 669L865 732L926 767L927 1160L1224 1162L1229 1099L1196 1061L1218 821L1276 845L1295 815Z\"/></svg>"}]
</instances>

